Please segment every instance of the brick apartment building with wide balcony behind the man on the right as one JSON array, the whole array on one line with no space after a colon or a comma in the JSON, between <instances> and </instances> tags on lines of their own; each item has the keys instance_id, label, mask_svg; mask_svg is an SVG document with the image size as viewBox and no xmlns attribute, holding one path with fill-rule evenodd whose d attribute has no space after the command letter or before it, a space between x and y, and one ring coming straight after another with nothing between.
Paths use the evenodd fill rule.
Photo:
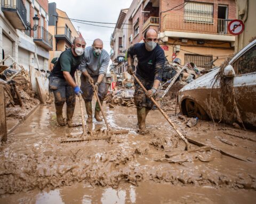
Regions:
<instances>
[{"instance_id":1,"label":"brick apartment building with wide balcony behind the man on the right","mask_svg":"<svg viewBox=\"0 0 256 204\"><path fill-rule=\"evenodd\" d=\"M234 53L235 36L227 25L235 18L235 0L133 0L118 42L127 50L153 28L169 61L179 57L182 64L211 69Z\"/></svg>"}]
</instances>

